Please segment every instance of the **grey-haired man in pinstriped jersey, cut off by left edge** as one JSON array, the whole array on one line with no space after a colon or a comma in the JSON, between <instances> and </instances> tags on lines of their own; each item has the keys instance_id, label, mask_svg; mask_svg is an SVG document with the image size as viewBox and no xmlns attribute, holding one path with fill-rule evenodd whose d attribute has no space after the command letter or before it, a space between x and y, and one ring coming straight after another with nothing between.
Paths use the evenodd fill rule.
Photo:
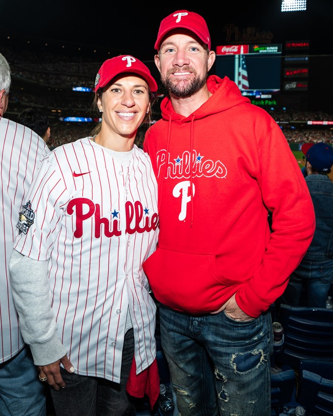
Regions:
<instances>
[{"instance_id":1,"label":"grey-haired man in pinstriped jersey, cut off by left edge","mask_svg":"<svg viewBox=\"0 0 333 416\"><path fill-rule=\"evenodd\" d=\"M44 416L46 398L43 383L38 379L29 348L24 346L13 303L8 263L13 251L18 212L39 161L49 150L30 128L3 117L10 85L10 67L0 54L0 416Z\"/></svg>"}]
</instances>

